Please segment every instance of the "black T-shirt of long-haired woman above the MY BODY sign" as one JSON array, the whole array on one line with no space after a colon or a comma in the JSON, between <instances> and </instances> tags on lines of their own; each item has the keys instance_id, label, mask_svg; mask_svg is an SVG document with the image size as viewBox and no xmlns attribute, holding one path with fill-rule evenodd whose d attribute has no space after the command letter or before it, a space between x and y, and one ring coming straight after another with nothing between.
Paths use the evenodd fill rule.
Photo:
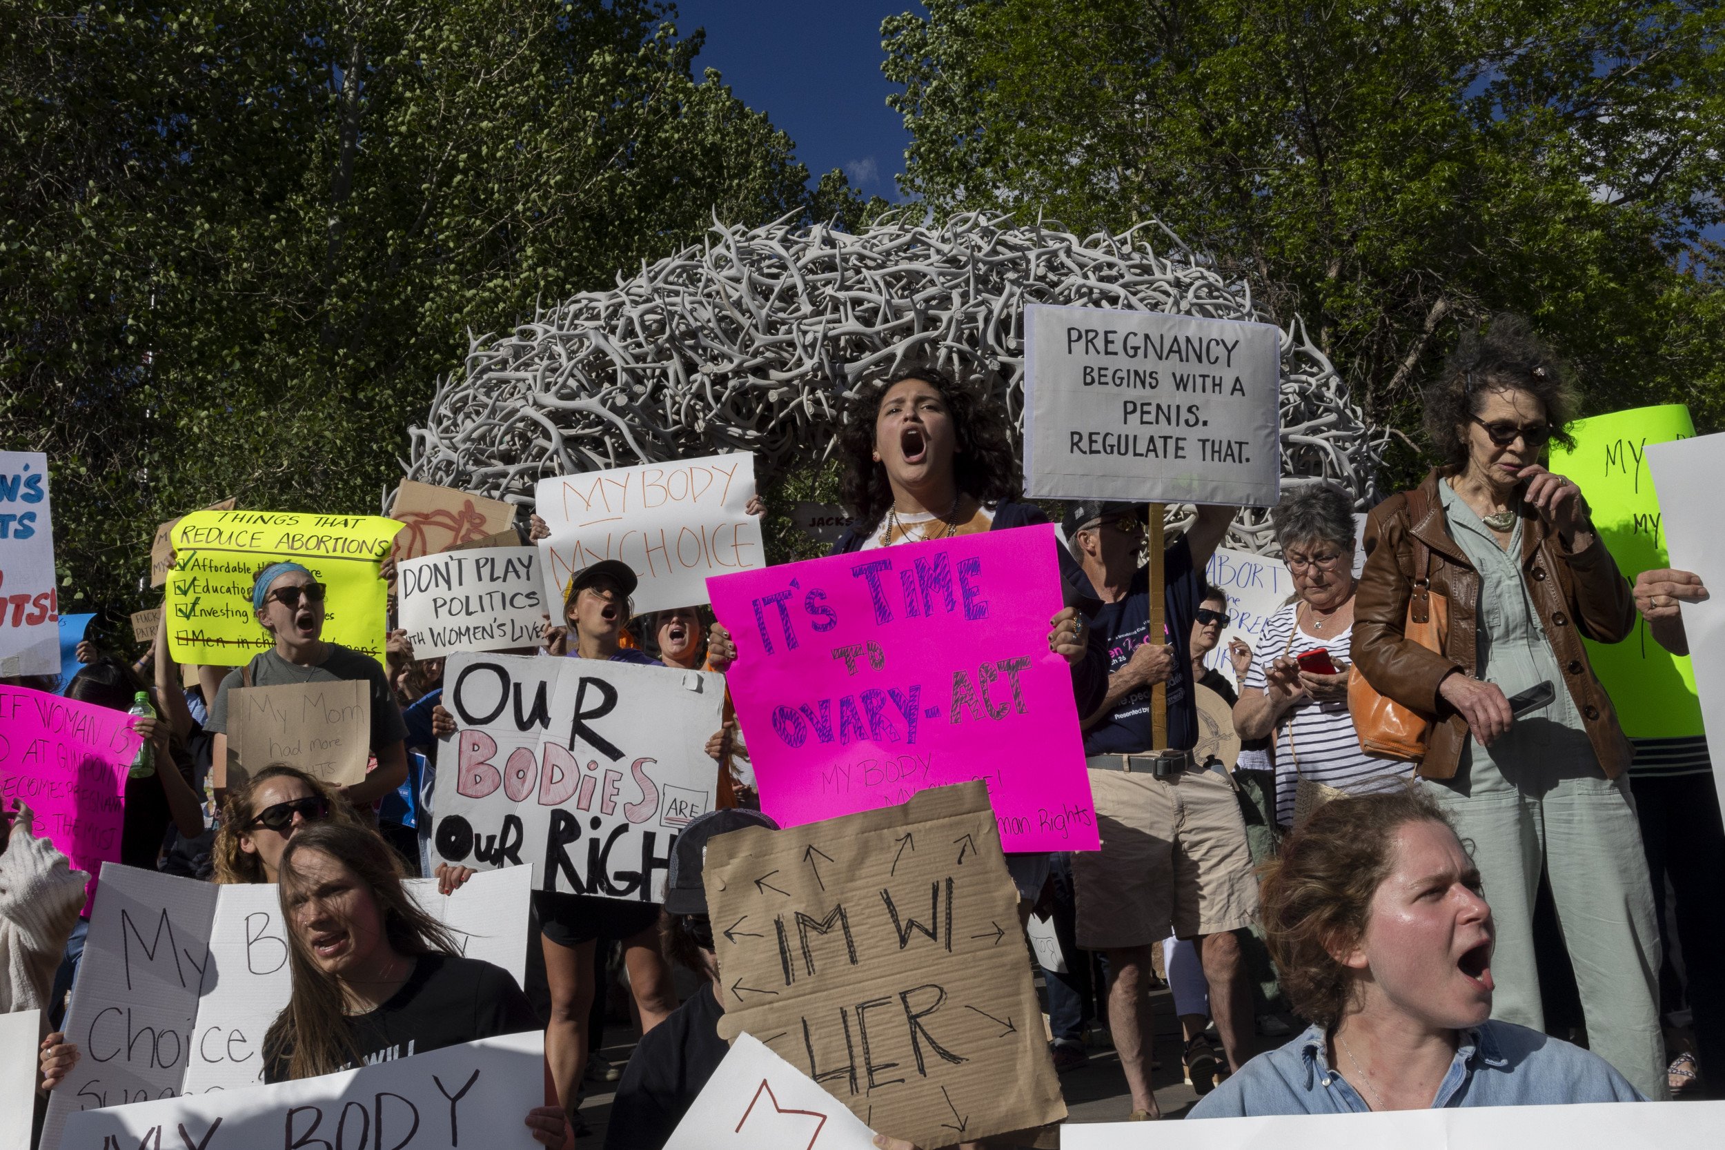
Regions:
<instances>
[{"instance_id":1,"label":"black T-shirt of long-haired woman above the MY BODY sign","mask_svg":"<svg viewBox=\"0 0 1725 1150\"><path fill-rule=\"evenodd\" d=\"M347 1022L364 1066L542 1028L509 971L445 953L421 955L388 1002ZM290 1055L285 1048L269 1060L266 1083L286 1081Z\"/></svg>"}]
</instances>

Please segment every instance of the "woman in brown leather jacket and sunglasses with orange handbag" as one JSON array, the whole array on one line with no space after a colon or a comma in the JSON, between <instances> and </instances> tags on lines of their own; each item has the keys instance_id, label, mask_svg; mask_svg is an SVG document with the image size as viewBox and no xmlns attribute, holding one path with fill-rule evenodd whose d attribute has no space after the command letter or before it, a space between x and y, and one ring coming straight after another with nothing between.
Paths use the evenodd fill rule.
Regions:
<instances>
[{"instance_id":1,"label":"woman in brown leather jacket and sunglasses with orange handbag","mask_svg":"<svg viewBox=\"0 0 1725 1150\"><path fill-rule=\"evenodd\" d=\"M1354 660L1437 722L1420 776L1470 843L1497 921L1492 1017L1544 1028L1534 900L1551 881L1587 1038L1665 1098L1653 888L1625 771L1632 757L1582 638L1618 643L1635 605L1577 484L1540 466L1568 441L1570 391L1523 321L1465 338L1427 391L1446 455L1366 524ZM1442 652L1404 634L1414 584L1447 600ZM1549 684L1549 702L1509 698Z\"/></svg>"}]
</instances>

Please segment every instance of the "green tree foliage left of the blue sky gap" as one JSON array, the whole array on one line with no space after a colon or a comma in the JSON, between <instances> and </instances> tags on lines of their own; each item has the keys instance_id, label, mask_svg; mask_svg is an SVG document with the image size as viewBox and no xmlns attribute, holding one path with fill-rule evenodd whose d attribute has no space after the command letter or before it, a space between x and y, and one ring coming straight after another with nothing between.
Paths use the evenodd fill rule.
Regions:
<instances>
[{"instance_id":1,"label":"green tree foliage left of the blue sky gap","mask_svg":"<svg viewBox=\"0 0 1725 1150\"><path fill-rule=\"evenodd\" d=\"M67 598L155 524L378 512L467 333L712 222L856 216L654 0L0 0L0 443Z\"/></svg>"}]
</instances>

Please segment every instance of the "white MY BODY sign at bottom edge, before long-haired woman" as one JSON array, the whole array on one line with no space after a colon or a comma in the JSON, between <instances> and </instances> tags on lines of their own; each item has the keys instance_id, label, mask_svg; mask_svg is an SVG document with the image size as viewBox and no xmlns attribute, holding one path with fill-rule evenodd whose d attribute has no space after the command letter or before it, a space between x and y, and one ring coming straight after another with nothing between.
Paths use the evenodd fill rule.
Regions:
<instances>
[{"instance_id":1,"label":"white MY BODY sign at bottom edge, before long-haired woman","mask_svg":"<svg viewBox=\"0 0 1725 1150\"><path fill-rule=\"evenodd\" d=\"M252 1090L72 1114L60 1150L536 1150L524 1119L543 1103L543 1031ZM62 1088L64 1090L64 1088ZM55 1091L55 1098L62 1093Z\"/></svg>"}]
</instances>

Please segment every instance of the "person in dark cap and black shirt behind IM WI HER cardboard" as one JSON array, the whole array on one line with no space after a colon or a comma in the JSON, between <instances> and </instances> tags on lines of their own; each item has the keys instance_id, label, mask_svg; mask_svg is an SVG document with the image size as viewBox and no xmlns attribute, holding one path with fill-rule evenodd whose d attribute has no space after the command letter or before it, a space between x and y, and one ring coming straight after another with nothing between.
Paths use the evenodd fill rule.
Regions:
<instances>
[{"instance_id":1,"label":"person in dark cap and black shirt behind IM WI HER cardboard","mask_svg":"<svg viewBox=\"0 0 1725 1150\"><path fill-rule=\"evenodd\" d=\"M707 843L745 826L778 829L759 810L731 809L711 810L676 836L664 891L664 910L671 916L666 953L706 981L671 1017L642 1034L611 1103L605 1150L661 1150L730 1050L719 1038L724 1003L716 993L719 967L700 874Z\"/></svg>"}]
</instances>

